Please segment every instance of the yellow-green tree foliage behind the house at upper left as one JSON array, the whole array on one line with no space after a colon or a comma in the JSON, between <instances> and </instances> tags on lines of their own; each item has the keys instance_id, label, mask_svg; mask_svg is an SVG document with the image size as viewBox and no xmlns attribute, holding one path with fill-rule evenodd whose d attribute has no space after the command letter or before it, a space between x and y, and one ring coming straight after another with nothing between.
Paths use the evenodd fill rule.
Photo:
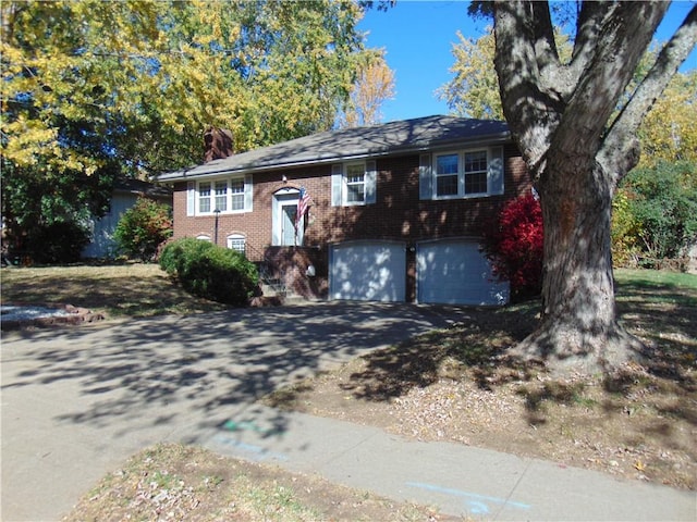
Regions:
<instances>
[{"instance_id":1,"label":"yellow-green tree foliage behind the house at upper left","mask_svg":"<svg viewBox=\"0 0 697 522\"><path fill-rule=\"evenodd\" d=\"M231 129L237 151L328 129L366 52L360 8L347 0L0 9L2 212L15 227L24 208L13 203L19 196L5 198L5 186L72 184L82 196L64 214L82 212L84 201L103 211L101 192L84 178L103 179L101 190L120 175L197 163L211 125ZM72 198L54 192L33 194Z\"/></svg>"}]
</instances>

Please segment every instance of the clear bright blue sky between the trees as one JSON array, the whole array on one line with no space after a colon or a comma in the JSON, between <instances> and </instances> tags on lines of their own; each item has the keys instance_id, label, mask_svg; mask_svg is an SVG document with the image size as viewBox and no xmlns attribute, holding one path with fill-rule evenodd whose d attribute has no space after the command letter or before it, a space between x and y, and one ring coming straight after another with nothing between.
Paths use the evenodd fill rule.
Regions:
<instances>
[{"instance_id":1,"label":"clear bright blue sky between the trees","mask_svg":"<svg viewBox=\"0 0 697 522\"><path fill-rule=\"evenodd\" d=\"M368 33L368 47L387 49L388 64L395 72L396 96L382 105L383 121L448 113L435 91L451 78L456 32L478 38L488 24L467 16L468 3L398 0L387 12L368 10L358 28ZM694 3L673 2L657 37L667 40ZM688 69L697 69L697 51L682 67Z\"/></svg>"}]
</instances>

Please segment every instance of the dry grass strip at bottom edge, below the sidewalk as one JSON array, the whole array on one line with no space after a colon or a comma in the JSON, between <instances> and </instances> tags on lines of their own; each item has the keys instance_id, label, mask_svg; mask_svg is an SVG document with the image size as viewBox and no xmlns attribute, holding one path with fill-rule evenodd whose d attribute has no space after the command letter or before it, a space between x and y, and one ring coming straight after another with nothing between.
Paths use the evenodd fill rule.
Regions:
<instances>
[{"instance_id":1,"label":"dry grass strip at bottom edge, below the sidewalk","mask_svg":"<svg viewBox=\"0 0 697 522\"><path fill-rule=\"evenodd\" d=\"M147 449L107 475L63 519L158 521L455 521L317 476L182 445Z\"/></svg>"}]
</instances>

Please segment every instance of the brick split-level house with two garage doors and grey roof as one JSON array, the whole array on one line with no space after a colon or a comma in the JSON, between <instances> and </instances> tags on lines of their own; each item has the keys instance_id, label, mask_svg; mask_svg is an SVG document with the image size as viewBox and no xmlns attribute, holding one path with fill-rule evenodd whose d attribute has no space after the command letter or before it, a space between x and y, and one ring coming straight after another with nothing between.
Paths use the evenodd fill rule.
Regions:
<instances>
[{"instance_id":1,"label":"brick split-level house with two garage doors and grey roof","mask_svg":"<svg viewBox=\"0 0 697 522\"><path fill-rule=\"evenodd\" d=\"M305 297L462 304L508 300L479 239L530 188L505 123L450 116L320 133L159 181L174 238L242 250Z\"/></svg>"}]
</instances>

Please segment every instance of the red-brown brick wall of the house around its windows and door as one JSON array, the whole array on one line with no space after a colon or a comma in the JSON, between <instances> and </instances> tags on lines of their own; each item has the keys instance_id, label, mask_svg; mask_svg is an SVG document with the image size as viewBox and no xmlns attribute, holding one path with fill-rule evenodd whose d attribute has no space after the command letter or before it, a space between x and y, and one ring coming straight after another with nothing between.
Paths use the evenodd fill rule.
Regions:
<instances>
[{"instance_id":1,"label":"red-brown brick wall of the house around its windows and door","mask_svg":"<svg viewBox=\"0 0 697 522\"><path fill-rule=\"evenodd\" d=\"M253 211L218 216L218 245L240 234L246 238L250 261L268 261L299 295L323 297L327 291L329 246L357 239L418 241L447 237L478 237L481 225L501 204L530 188L525 163L513 145L504 150L502 196L452 200L419 200L419 157L408 154L377 160L375 204L331 206L331 164L303 169L254 173ZM285 176L286 182L282 178ZM303 247L272 246L273 195L283 187L304 186L311 196L311 208ZM174 236L213 238L213 215L186 215L186 183L173 187ZM309 265L316 276L307 277ZM415 298L415 254L407 248L407 300Z\"/></svg>"}]
</instances>

